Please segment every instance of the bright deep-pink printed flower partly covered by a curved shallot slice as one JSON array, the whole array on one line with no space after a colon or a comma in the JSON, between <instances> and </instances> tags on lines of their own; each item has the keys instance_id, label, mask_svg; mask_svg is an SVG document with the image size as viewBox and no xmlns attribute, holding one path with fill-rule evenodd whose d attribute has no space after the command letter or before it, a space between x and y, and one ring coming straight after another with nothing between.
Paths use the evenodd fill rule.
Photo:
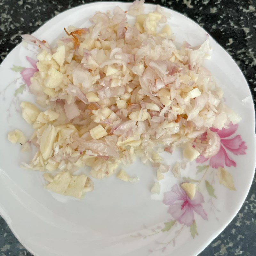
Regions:
<instances>
[{"instance_id":1,"label":"bright deep-pink printed flower partly covered by a curved shallot slice","mask_svg":"<svg viewBox=\"0 0 256 256\"><path fill-rule=\"evenodd\" d=\"M237 156L245 155L245 149L247 149L240 135L228 138L236 132L237 128L238 124L232 123L228 125L228 128L222 130L210 128L211 131L216 132L220 136L220 150L215 156L210 158L199 156L196 159L196 163L204 163L210 159L209 165L212 166L212 168L224 167L224 165L236 167L236 162L228 155L227 150Z\"/></svg>"}]
</instances>

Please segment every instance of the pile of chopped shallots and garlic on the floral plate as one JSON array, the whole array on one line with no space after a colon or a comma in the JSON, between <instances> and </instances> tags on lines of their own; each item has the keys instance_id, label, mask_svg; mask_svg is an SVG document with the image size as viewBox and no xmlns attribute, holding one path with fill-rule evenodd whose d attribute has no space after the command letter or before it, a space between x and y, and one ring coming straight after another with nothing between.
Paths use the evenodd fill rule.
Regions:
<instances>
[{"instance_id":1,"label":"pile of chopped shallots and garlic on the floral plate","mask_svg":"<svg viewBox=\"0 0 256 256\"><path fill-rule=\"evenodd\" d=\"M113 14L96 12L90 28L64 28L67 36L53 49L34 36L22 36L38 46L38 72L29 91L47 110L22 102L22 116L35 131L27 142L19 130L8 138L23 144L22 151L31 143L38 148L22 165L45 172L46 188L54 192L81 198L93 182L73 172L86 165L90 177L102 179L136 157L156 167L159 181L170 169L159 153L181 146L185 161L213 156L220 138L209 128L240 121L202 67L209 59L209 39L194 48L185 41L178 50L171 28L164 25L168 15L160 6L144 14L143 2L136 0L127 12L118 6ZM126 14L135 16L134 26ZM179 163L173 173L180 176ZM138 180L123 169L117 177ZM158 181L152 193L160 192ZM183 187L194 189L189 183Z\"/></svg>"}]
</instances>

